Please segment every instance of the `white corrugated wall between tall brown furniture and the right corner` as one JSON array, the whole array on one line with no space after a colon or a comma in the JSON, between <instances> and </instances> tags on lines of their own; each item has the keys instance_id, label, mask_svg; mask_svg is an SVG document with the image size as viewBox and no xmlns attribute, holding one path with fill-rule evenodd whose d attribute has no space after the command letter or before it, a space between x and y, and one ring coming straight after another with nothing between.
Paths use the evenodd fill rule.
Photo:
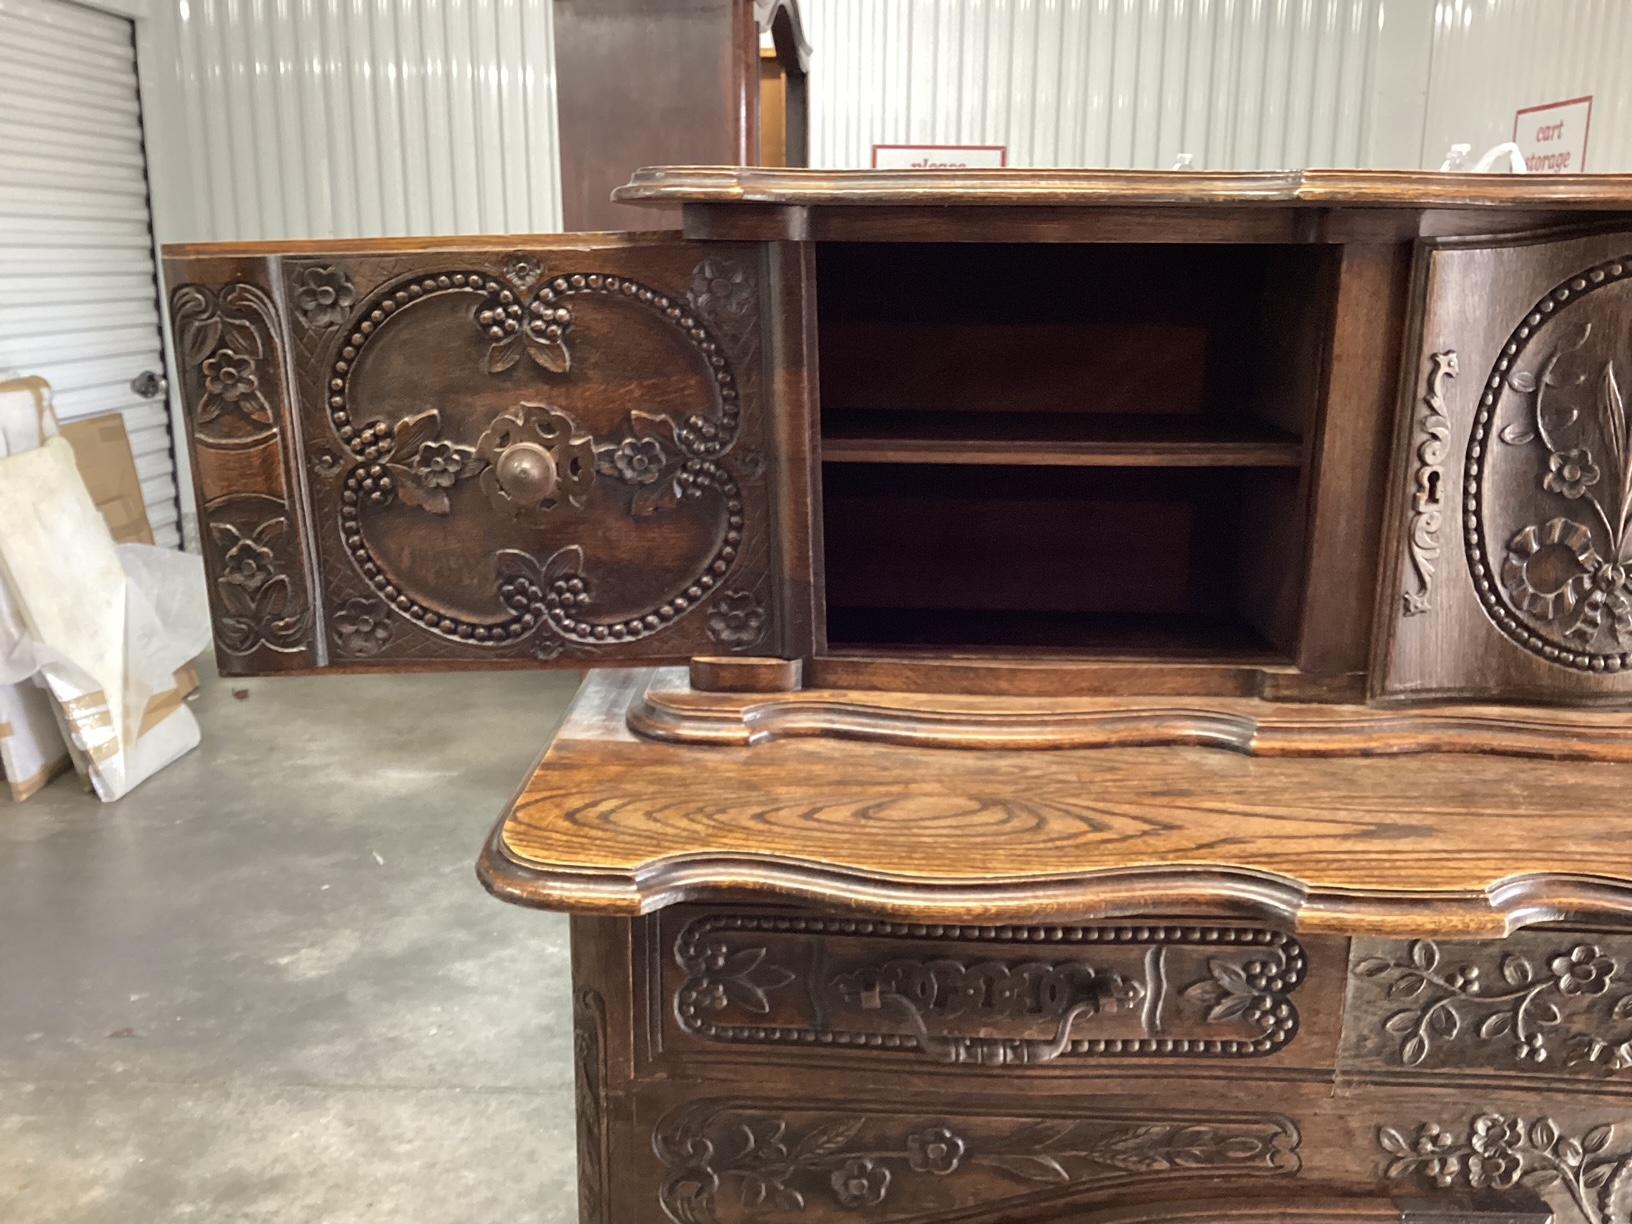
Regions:
<instances>
[{"instance_id":1,"label":"white corrugated wall between tall brown furniture and the right corner","mask_svg":"<svg viewBox=\"0 0 1632 1224\"><path fill-rule=\"evenodd\" d=\"M1423 0L801 7L816 165L865 166L873 144L1002 144L1010 165L1058 166L1417 162L1420 132L1379 131L1377 98L1420 95Z\"/></svg>"}]
</instances>

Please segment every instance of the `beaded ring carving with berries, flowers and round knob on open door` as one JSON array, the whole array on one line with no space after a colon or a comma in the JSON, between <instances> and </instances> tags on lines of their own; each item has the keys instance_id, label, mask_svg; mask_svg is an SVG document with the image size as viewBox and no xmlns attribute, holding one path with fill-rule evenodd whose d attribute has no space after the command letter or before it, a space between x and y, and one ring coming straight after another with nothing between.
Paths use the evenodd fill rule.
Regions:
<instances>
[{"instance_id":1,"label":"beaded ring carving with berries, flowers and round knob on open door","mask_svg":"<svg viewBox=\"0 0 1632 1224\"><path fill-rule=\"evenodd\" d=\"M725 279L734 292L736 281ZM529 297L534 284L537 289ZM739 287L752 300L752 284L744 279ZM499 413L475 446L444 437L436 410L393 423L353 421L348 405L359 354L397 312L446 294L477 297L472 320L490 341L491 372L508 369L526 353L545 370L565 375L571 369L570 300L578 295L615 297L650 310L679 331L705 364L716 415L671 418L632 410L627 432L594 437L561 410L522 401ZM734 299L731 308L738 313L746 310ZM605 643L636 641L707 602L738 560L744 506L741 488L720 457L736 442L739 392L720 343L689 302L602 273L543 279L542 269L522 255L506 261L504 279L483 273L416 276L387 286L359 308L354 330L343 338L333 361L328 387L330 419L353 455L353 467L341 477L341 539L346 552L388 610L432 633L473 645L532 638L532 653L543 659L558 656L568 645L592 650ZM526 524L542 524L547 516L581 511L597 477L610 477L615 486L628 490L630 514L636 519L671 511L682 501L712 498L721 504L720 542L692 578L663 604L622 620L591 617L594 591L578 545L542 558L517 550L501 553L496 579L506 615L473 622L447 615L405 592L364 539L364 509L385 506L393 498L432 514L447 514L450 490L462 480L480 478L488 503L498 511ZM756 625L747 609L733 605L723 615L728 632L738 635ZM757 627L762 632L762 612Z\"/></svg>"}]
</instances>

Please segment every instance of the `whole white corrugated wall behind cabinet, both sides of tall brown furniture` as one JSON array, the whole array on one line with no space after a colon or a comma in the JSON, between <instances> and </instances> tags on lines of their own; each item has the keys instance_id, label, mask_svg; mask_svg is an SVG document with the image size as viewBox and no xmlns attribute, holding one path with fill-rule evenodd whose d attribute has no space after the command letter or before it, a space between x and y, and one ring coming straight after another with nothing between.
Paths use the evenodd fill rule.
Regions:
<instances>
[{"instance_id":1,"label":"whole white corrugated wall behind cabinet, both sides of tall brown furniture","mask_svg":"<svg viewBox=\"0 0 1632 1224\"><path fill-rule=\"evenodd\" d=\"M137 20L158 242L560 228L548 0L96 7ZM1632 168L1622 0L801 8L813 165L1002 144L1010 165L1433 168L1590 93L1588 168Z\"/></svg>"}]
</instances>

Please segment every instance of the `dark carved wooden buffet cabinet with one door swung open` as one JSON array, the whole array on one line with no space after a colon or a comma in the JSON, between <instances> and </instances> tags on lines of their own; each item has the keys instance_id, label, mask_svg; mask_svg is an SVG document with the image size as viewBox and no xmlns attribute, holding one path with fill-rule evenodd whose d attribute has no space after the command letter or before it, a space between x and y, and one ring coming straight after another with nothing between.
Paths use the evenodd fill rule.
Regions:
<instances>
[{"instance_id":1,"label":"dark carved wooden buffet cabinet with one door swung open","mask_svg":"<svg viewBox=\"0 0 1632 1224\"><path fill-rule=\"evenodd\" d=\"M166 251L224 671L596 669L586 1224L1629 1224L1632 180L617 196Z\"/></svg>"}]
</instances>

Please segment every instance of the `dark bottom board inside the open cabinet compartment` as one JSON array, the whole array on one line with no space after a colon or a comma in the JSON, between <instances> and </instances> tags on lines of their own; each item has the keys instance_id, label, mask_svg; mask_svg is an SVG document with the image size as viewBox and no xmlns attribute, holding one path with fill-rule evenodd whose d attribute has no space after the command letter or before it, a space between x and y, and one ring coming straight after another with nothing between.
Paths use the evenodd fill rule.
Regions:
<instances>
[{"instance_id":1,"label":"dark bottom board inside the open cabinet compartment","mask_svg":"<svg viewBox=\"0 0 1632 1224\"><path fill-rule=\"evenodd\" d=\"M1270 643L1244 620L1204 614L829 607L827 641L847 651L963 648L1097 658L1278 661Z\"/></svg>"}]
</instances>

